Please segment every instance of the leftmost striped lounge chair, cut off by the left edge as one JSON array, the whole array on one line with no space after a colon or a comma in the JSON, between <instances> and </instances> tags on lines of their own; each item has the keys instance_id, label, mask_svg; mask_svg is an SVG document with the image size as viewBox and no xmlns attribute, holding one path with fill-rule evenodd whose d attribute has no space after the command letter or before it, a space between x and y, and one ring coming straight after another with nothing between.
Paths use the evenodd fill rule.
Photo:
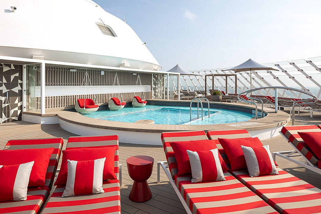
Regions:
<instances>
[{"instance_id":1,"label":"leftmost striped lounge chair, cut off by the left edge","mask_svg":"<svg viewBox=\"0 0 321 214\"><path fill-rule=\"evenodd\" d=\"M28 187L26 201L1 201L0 213L38 214L46 203L56 174L60 153L63 147L62 138L10 140L5 150L55 148L47 168L45 186Z\"/></svg>"}]
</instances>

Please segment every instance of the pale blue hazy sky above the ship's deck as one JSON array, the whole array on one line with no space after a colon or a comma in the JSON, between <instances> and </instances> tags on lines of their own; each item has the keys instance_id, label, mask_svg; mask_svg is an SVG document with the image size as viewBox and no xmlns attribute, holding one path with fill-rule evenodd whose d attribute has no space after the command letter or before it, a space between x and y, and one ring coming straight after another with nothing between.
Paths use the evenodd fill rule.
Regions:
<instances>
[{"instance_id":1,"label":"pale blue hazy sky above the ship's deck","mask_svg":"<svg viewBox=\"0 0 321 214\"><path fill-rule=\"evenodd\" d=\"M124 19L166 71L321 56L321 0L95 0Z\"/></svg>"}]
</instances>

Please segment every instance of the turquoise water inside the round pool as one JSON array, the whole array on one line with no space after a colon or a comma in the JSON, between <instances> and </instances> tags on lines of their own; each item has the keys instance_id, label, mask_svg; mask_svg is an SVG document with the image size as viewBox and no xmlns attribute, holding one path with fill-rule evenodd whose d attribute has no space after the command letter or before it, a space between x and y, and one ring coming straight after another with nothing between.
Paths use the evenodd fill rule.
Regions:
<instances>
[{"instance_id":1,"label":"turquoise water inside the round pool","mask_svg":"<svg viewBox=\"0 0 321 214\"><path fill-rule=\"evenodd\" d=\"M192 121L190 121L189 107L169 107L146 105L140 108L125 107L118 111L101 110L84 114L84 116L119 122L134 123L137 120L153 120L155 124L223 124L248 121L252 118L251 113L232 111L226 109L210 108L210 117L208 109L203 110L203 120L201 119L201 109L199 110L199 119L197 119L197 108L192 108Z\"/></svg>"}]
</instances>

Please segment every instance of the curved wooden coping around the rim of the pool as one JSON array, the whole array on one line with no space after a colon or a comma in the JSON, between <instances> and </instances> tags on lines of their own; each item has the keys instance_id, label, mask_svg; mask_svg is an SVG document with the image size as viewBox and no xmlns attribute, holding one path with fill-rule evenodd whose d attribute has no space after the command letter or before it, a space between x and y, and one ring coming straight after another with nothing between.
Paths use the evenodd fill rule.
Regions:
<instances>
[{"instance_id":1,"label":"curved wooden coping around the rim of the pool","mask_svg":"<svg viewBox=\"0 0 321 214\"><path fill-rule=\"evenodd\" d=\"M176 102L176 103L189 103L190 100L161 100L161 99L150 99L147 101L160 101L160 102ZM229 105L236 107L245 107L249 109L255 109L253 105L241 104L241 103L222 103L222 102L210 102L215 105ZM258 109L261 106L258 105ZM117 121L100 120L83 116L77 112L63 111L59 109L46 109L46 114L41 115L39 111L35 112L23 112L22 114L33 115L33 116L57 116L59 120L82 125L92 128L117 130L117 131L128 131L128 132L144 132L144 133L162 133L169 131L193 131L193 130L230 130L230 129L247 129L260 130L273 128L287 124L291 117L289 114L283 111L274 112L274 108L264 107L264 112L267 114L263 118L257 120L251 119L245 122L230 123L230 124L210 124L210 125L166 125L166 124L138 124L138 123L126 123Z\"/></svg>"}]
</instances>

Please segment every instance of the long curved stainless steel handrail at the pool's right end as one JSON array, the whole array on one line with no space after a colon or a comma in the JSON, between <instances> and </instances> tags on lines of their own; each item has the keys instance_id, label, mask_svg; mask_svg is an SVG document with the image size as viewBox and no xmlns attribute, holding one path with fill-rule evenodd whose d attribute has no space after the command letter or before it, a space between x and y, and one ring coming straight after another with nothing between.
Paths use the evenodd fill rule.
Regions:
<instances>
[{"instance_id":1,"label":"long curved stainless steel handrail at the pool's right end","mask_svg":"<svg viewBox=\"0 0 321 214\"><path fill-rule=\"evenodd\" d=\"M285 89L285 90L292 90L292 91L297 91L299 93L302 93L302 94L306 94L306 95L309 95L311 96L312 98L311 99L301 99L301 100L295 100L293 102L293 106L292 106L292 125L294 125L294 116L295 116L295 107L296 106L301 106L301 105L305 105L307 103L305 103L306 101L309 102L308 104L314 104L314 103L317 103L318 101L318 98L316 95L314 95L313 93L310 93L310 92L307 92L307 91L304 91L304 90L299 90L299 89L295 89L295 88L289 88L289 87L283 87L283 86L269 86L269 87L261 87L261 88L255 88L255 89L251 89L251 90L247 90L247 91L243 91L241 93L239 93L238 95L238 99L241 100L241 101L245 101L245 102L248 102L248 103L252 103L255 105L255 118L257 119L257 104L253 101L249 101L249 100L245 100L245 99L242 99L240 98L240 95L245 95L247 98L249 99L254 99L254 100L257 100L256 98L253 98L253 97L248 97L247 95L253 91L256 91L256 90L261 90L261 89ZM278 96L277 96L277 93L275 93L275 109L277 109L277 100L278 100ZM264 103L262 100L260 100L261 103L262 103L262 116L263 116L263 107L264 107ZM302 103L298 103L298 102L302 102Z\"/></svg>"}]
</instances>

